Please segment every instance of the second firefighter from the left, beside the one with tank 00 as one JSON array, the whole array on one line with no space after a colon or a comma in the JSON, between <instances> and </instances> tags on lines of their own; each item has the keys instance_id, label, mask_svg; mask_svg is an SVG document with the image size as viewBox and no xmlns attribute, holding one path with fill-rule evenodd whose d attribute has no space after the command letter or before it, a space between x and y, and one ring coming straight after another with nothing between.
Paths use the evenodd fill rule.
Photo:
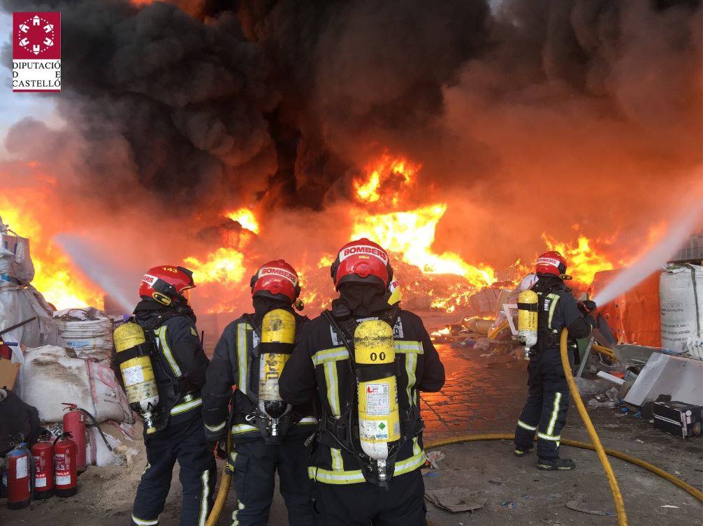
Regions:
<instances>
[{"instance_id":1,"label":"second firefighter from the left, beside the one with tank 00","mask_svg":"<svg viewBox=\"0 0 703 526\"><path fill-rule=\"evenodd\" d=\"M267 313L283 309L295 315L295 334L309 321L293 310L300 294L295 269L283 260L270 261L252 276L254 313L229 324L215 347L203 389L202 414L209 447L226 440L228 403L232 400L234 442L230 462L238 506L233 526L264 526L269 522L276 472L291 526L314 524L311 482L307 477L309 447L305 440L316 428L314 409L299 404L276 423L259 403L262 322ZM291 346L292 348L292 346ZM237 389L232 393L232 386Z\"/></svg>"}]
</instances>

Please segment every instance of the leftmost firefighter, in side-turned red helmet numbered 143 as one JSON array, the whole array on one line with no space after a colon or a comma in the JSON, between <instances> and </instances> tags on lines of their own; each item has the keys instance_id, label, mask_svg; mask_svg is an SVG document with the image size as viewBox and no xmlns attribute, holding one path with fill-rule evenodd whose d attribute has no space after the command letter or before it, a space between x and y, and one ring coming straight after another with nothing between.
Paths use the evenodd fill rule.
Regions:
<instances>
[{"instance_id":1,"label":"leftmost firefighter, in side-turned red helmet numbered 143","mask_svg":"<svg viewBox=\"0 0 703 526\"><path fill-rule=\"evenodd\" d=\"M215 461L205 446L200 413L209 362L188 305L193 287L193 272L175 265L151 268L139 284L134 319L153 348L160 402L154 412L157 430L144 434L147 465L134 499L133 526L158 524L176 461L183 486L181 526L204 525L212 507Z\"/></svg>"}]
</instances>

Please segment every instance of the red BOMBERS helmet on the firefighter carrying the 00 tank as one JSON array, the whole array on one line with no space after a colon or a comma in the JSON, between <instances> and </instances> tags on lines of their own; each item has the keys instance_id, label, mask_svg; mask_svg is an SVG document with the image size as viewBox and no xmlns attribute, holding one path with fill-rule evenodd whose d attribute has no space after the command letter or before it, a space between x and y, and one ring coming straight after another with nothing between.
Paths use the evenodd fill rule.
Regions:
<instances>
[{"instance_id":1,"label":"red BOMBERS helmet on the firefighter carrying the 00 tank","mask_svg":"<svg viewBox=\"0 0 703 526\"><path fill-rule=\"evenodd\" d=\"M387 252L373 241L362 237L342 246L330 268L335 289L345 282L375 283L388 288L393 279Z\"/></svg>"}]
</instances>

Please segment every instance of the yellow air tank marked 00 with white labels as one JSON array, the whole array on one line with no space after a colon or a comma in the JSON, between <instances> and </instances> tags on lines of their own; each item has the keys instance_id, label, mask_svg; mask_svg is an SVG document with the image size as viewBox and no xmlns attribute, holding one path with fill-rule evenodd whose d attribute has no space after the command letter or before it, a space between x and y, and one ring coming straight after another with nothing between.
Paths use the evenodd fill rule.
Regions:
<instances>
[{"instance_id":1,"label":"yellow air tank marked 00 with white labels","mask_svg":"<svg viewBox=\"0 0 703 526\"><path fill-rule=\"evenodd\" d=\"M361 322L354 331L354 362L359 376L359 440L378 465L378 480L387 480L386 460L392 442L400 440L398 383L393 329L382 320ZM391 367L389 367L389 364Z\"/></svg>"}]
</instances>

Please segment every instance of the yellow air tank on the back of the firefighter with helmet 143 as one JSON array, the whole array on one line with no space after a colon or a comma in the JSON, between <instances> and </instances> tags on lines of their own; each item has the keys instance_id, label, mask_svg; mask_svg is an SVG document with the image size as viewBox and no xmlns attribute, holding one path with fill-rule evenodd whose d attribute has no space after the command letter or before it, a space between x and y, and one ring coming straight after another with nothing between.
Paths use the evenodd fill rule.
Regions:
<instances>
[{"instance_id":1,"label":"yellow air tank on the back of the firefighter with helmet 143","mask_svg":"<svg viewBox=\"0 0 703 526\"><path fill-rule=\"evenodd\" d=\"M115 329L115 350L120 353L146 343L143 329L134 322L127 322ZM146 433L156 431L153 422L153 409L159 404L159 391L154 379L154 369L148 354L141 354L120 363L120 373L124 381L124 391L132 409L141 413Z\"/></svg>"}]
</instances>

